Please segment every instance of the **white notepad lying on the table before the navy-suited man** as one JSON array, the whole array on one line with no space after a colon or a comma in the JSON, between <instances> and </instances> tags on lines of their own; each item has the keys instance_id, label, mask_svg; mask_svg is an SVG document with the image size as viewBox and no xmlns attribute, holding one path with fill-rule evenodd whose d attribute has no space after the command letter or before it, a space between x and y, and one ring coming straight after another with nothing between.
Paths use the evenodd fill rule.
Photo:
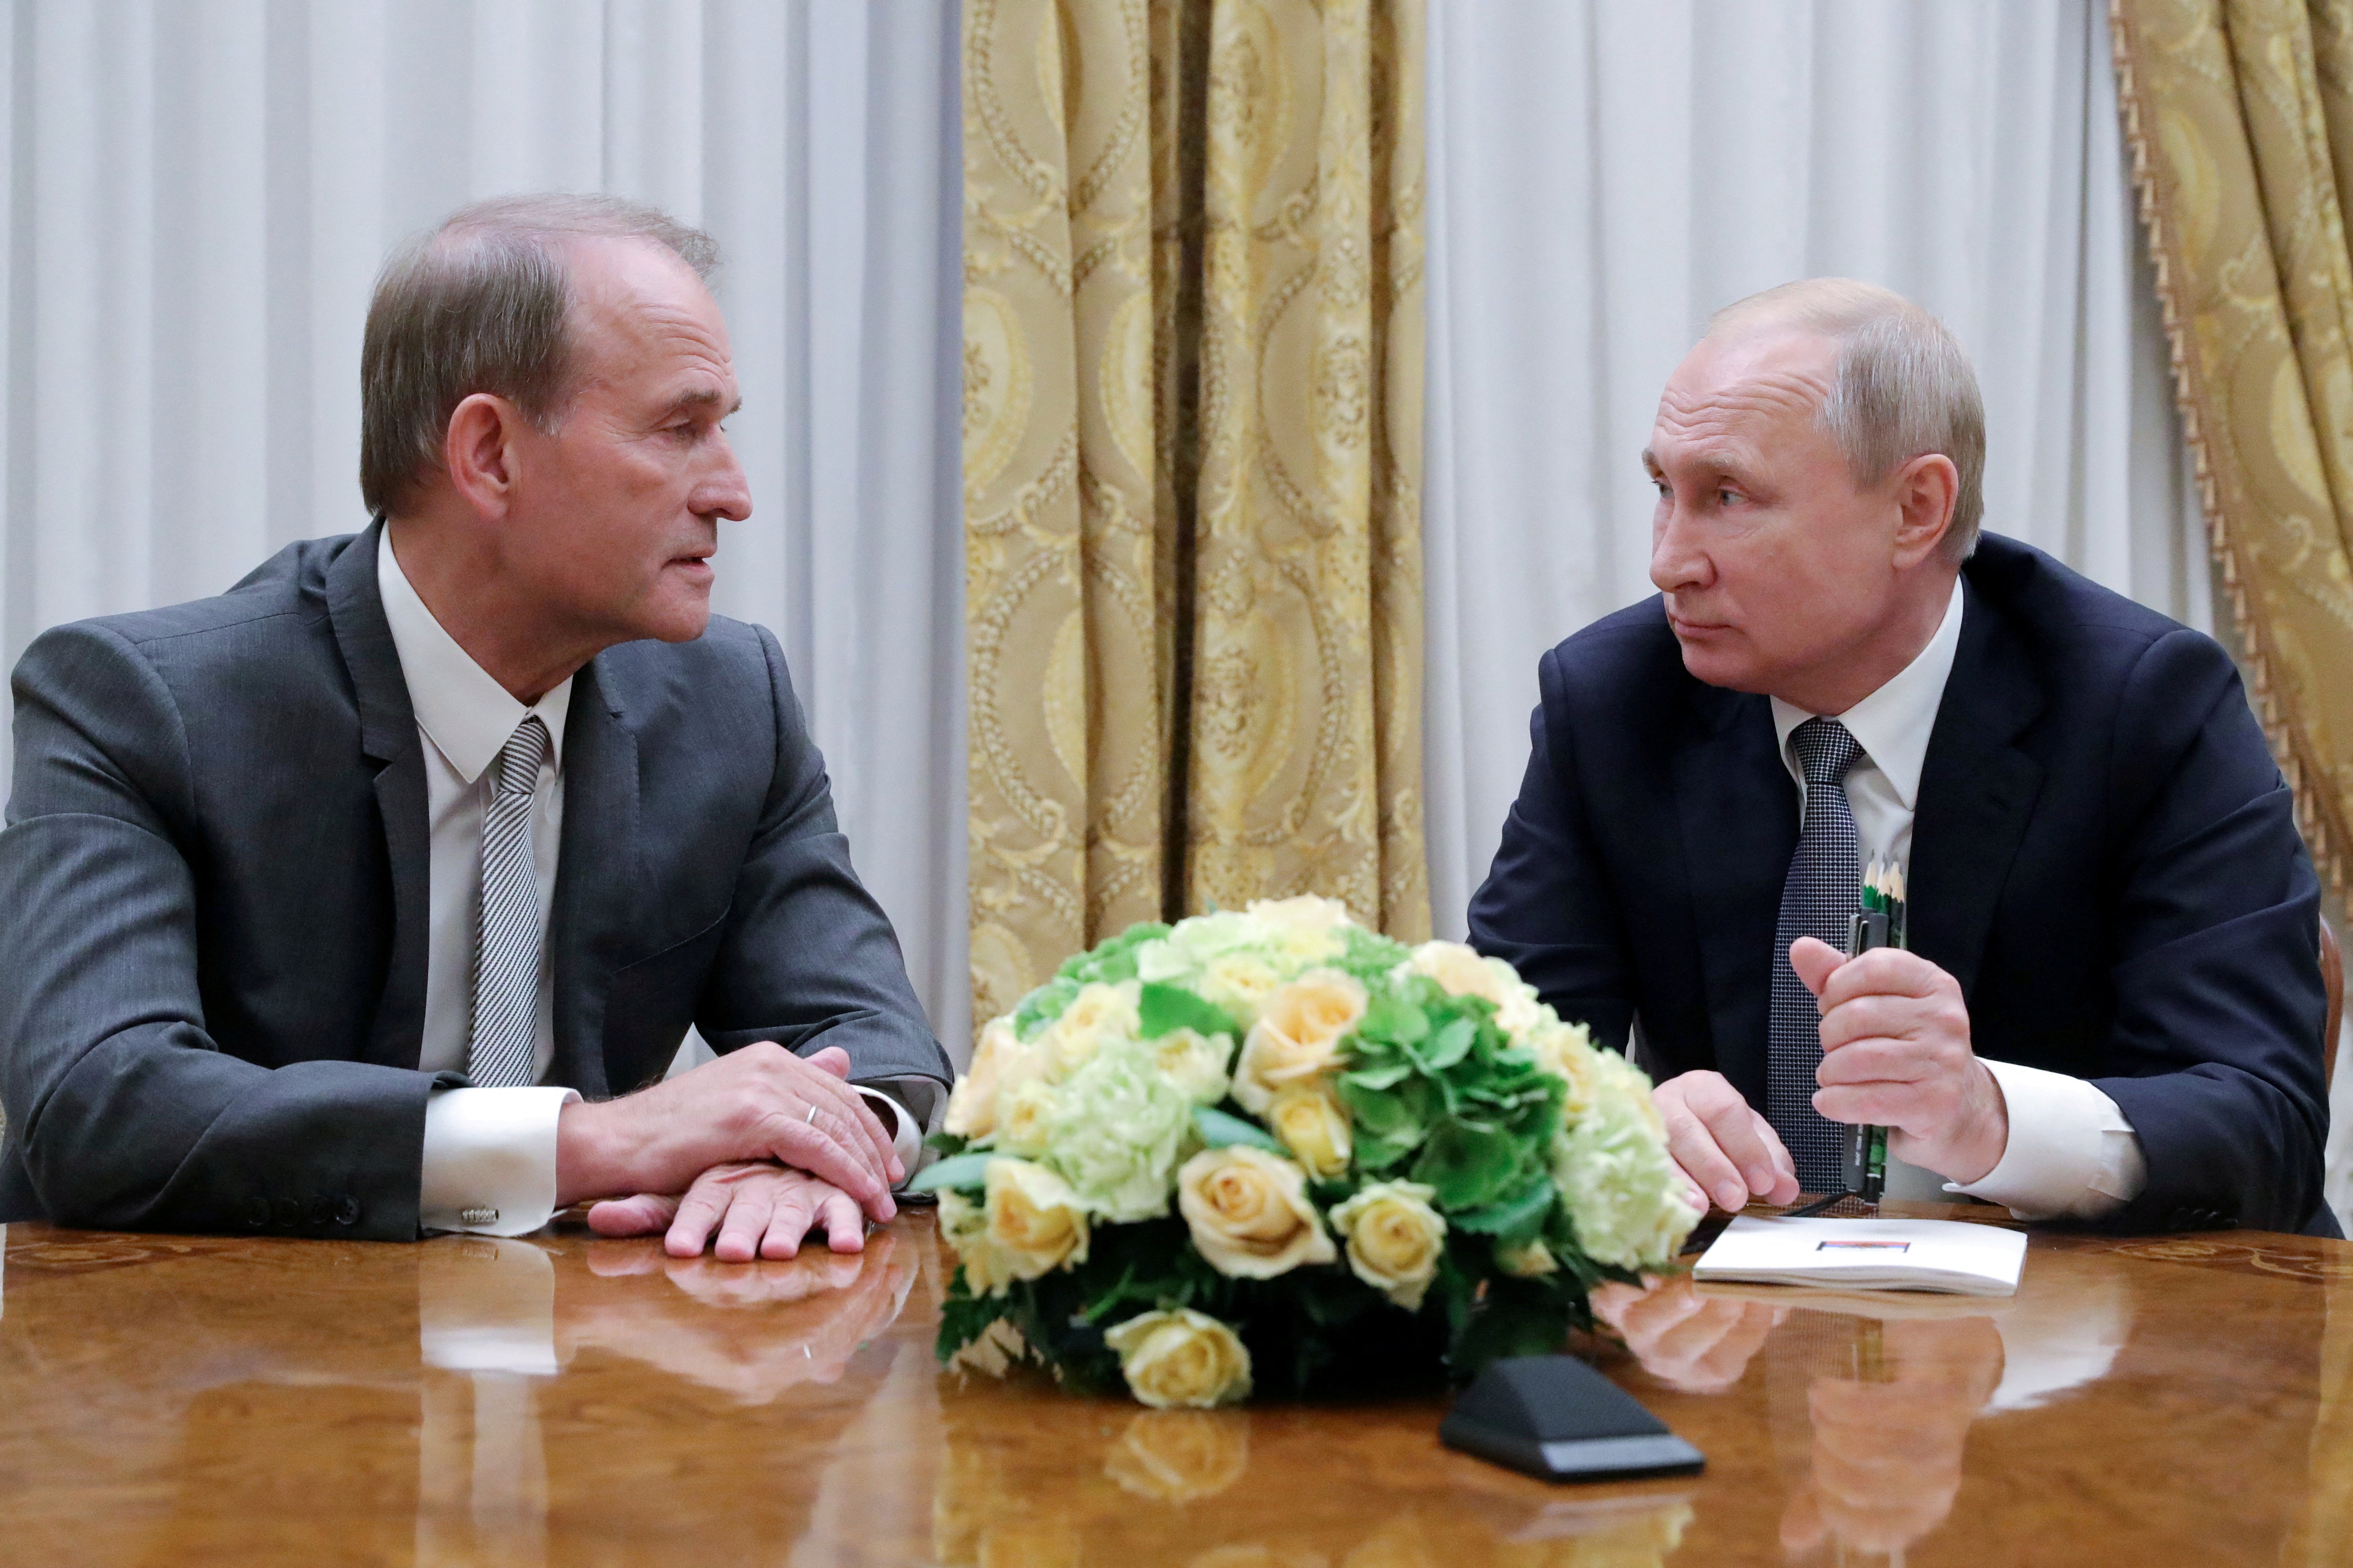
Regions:
<instances>
[{"instance_id":1,"label":"white notepad lying on the table before the navy-suited man","mask_svg":"<svg viewBox=\"0 0 2353 1568\"><path fill-rule=\"evenodd\" d=\"M2026 1237L1962 1220L1758 1220L1741 1215L1692 1267L1699 1284L2014 1295Z\"/></svg>"}]
</instances>

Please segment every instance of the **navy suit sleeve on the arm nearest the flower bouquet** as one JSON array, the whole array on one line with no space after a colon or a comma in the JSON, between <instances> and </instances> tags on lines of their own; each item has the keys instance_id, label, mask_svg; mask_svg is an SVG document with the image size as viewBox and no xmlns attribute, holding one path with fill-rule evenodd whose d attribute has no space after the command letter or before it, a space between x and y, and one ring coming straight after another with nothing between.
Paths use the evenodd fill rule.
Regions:
<instances>
[{"instance_id":1,"label":"navy suit sleeve on the arm nearest the flower bouquet","mask_svg":"<svg viewBox=\"0 0 2353 1568\"><path fill-rule=\"evenodd\" d=\"M1471 945L1518 969L1555 1013L1586 1023L1595 1044L1624 1051L1633 973L1579 795L1560 649L1544 656L1537 682L1527 776L1487 882L1471 898Z\"/></svg>"}]
</instances>

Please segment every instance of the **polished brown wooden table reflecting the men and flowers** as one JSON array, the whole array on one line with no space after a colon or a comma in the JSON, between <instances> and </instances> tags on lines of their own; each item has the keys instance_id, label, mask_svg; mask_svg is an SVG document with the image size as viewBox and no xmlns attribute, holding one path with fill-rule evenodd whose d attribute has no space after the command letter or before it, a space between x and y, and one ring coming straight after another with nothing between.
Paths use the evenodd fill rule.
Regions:
<instances>
[{"instance_id":1,"label":"polished brown wooden table reflecting the men and flowers","mask_svg":"<svg viewBox=\"0 0 2353 1568\"><path fill-rule=\"evenodd\" d=\"M1889 1206L1929 1213L1927 1206ZM1979 1211L1988 1213L1988 1211ZM1546 1486L1442 1401L1153 1413L932 1361L927 1213L675 1262L7 1227L0 1561L2337 1563L2353 1246L2038 1234L2019 1295L1614 1302L1704 1476Z\"/></svg>"}]
</instances>

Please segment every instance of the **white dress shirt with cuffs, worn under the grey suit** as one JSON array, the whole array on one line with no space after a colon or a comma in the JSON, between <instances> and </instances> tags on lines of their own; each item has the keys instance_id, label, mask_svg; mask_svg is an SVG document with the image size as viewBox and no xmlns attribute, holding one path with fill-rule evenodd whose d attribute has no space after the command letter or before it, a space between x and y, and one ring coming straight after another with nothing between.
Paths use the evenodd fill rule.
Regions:
<instances>
[{"instance_id":1,"label":"white dress shirt with cuffs, worn under the grey suit","mask_svg":"<svg viewBox=\"0 0 2353 1568\"><path fill-rule=\"evenodd\" d=\"M532 877L539 891L539 1001L532 1018L532 1077L555 1056L555 992L548 961L548 910L565 823L565 717L572 679L525 708L459 646L416 597L393 555L391 531L376 550L376 588L400 654L400 675L416 712L426 764L426 1023L416 1065L464 1072L473 1039L475 907L482 896L482 813L489 764L525 717L548 726L548 755L532 792ZM892 1128L899 1164L915 1171L922 1128L896 1103L866 1086L859 1093ZM555 1121L579 1091L438 1088L426 1100L419 1222L426 1229L475 1229L520 1237L555 1213Z\"/></svg>"}]
</instances>

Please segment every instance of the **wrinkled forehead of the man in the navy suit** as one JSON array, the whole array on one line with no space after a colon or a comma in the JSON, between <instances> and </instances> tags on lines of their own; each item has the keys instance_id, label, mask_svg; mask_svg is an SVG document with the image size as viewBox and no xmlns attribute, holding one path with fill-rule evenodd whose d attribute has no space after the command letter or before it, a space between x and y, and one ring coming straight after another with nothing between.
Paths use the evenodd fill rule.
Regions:
<instances>
[{"instance_id":1,"label":"wrinkled forehead of the man in the navy suit","mask_svg":"<svg viewBox=\"0 0 2353 1568\"><path fill-rule=\"evenodd\" d=\"M1838 341L1817 331L1727 327L1699 341L1659 393L1652 454L1758 454L1817 430L1838 383Z\"/></svg>"}]
</instances>

